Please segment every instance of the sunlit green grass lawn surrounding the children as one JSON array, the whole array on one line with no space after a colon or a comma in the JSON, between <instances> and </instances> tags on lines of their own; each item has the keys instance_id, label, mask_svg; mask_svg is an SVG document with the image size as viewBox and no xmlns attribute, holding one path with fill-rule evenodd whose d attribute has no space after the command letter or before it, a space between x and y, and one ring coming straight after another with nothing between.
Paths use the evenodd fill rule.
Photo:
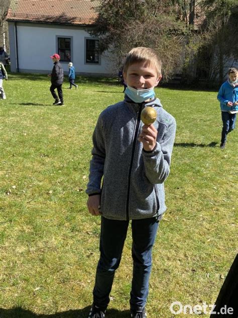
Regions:
<instances>
[{"instance_id":1,"label":"sunlit green grass lawn surrounding the children","mask_svg":"<svg viewBox=\"0 0 238 318\"><path fill-rule=\"evenodd\" d=\"M105 78L64 83L53 106L46 75L10 74L0 100L0 317L87 317L98 261L100 218L85 188L99 113L123 99ZM213 304L236 255L237 130L219 148L217 92L157 88L177 121L167 212L154 247L148 318L170 304ZM131 232L106 317L129 317ZM194 315L194 314L193 314ZM193 316L179 314L176 316ZM209 314L203 314L209 317Z\"/></svg>"}]
</instances>

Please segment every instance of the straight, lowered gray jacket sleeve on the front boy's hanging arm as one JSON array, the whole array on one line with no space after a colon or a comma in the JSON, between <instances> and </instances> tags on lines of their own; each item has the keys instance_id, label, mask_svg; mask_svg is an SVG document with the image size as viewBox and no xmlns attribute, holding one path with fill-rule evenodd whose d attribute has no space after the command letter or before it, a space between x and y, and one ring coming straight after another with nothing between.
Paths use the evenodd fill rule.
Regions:
<instances>
[{"instance_id":1,"label":"straight, lowered gray jacket sleeve on the front boy's hanging arm","mask_svg":"<svg viewBox=\"0 0 238 318\"><path fill-rule=\"evenodd\" d=\"M100 115L92 136L93 148L92 158L89 167L89 182L86 193L100 194L101 180L103 176L104 161L105 161L105 145L103 136L102 116Z\"/></svg>"}]
</instances>

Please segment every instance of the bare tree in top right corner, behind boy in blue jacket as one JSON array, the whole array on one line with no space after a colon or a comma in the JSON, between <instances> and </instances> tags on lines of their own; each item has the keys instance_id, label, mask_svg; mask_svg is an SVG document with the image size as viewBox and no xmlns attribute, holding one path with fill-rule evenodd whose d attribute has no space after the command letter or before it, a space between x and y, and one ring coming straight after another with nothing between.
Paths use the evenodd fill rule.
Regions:
<instances>
[{"instance_id":1,"label":"bare tree in top right corner, behind boy in blue jacket","mask_svg":"<svg viewBox=\"0 0 238 318\"><path fill-rule=\"evenodd\" d=\"M203 47L206 52L207 79L209 82L219 79L223 82L224 71L229 67L232 55L237 54L238 4L237 0L203 0L206 23L203 31ZM199 60L204 64L204 58Z\"/></svg>"}]
</instances>

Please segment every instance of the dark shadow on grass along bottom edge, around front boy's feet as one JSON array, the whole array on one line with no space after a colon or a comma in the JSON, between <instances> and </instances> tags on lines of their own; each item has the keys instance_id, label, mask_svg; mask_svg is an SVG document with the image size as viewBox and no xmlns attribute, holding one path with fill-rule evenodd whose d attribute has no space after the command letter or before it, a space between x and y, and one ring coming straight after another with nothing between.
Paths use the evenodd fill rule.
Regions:
<instances>
[{"instance_id":1,"label":"dark shadow on grass along bottom edge, around front boy's feet","mask_svg":"<svg viewBox=\"0 0 238 318\"><path fill-rule=\"evenodd\" d=\"M4 309L0 308L1 318L87 318L90 311L90 306L82 309L67 310L64 312L56 312L52 314L37 314L30 310L23 309L21 307ZM106 311L106 317L108 318L128 318L130 317L130 311L118 311L115 309L108 309Z\"/></svg>"}]
</instances>

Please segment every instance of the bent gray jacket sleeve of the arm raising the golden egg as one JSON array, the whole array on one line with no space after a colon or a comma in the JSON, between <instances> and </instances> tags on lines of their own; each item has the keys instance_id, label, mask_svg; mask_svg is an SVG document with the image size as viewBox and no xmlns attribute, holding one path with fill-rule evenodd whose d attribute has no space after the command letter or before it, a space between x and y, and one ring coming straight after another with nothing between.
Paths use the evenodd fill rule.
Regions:
<instances>
[{"instance_id":1,"label":"bent gray jacket sleeve of the arm raising the golden egg","mask_svg":"<svg viewBox=\"0 0 238 318\"><path fill-rule=\"evenodd\" d=\"M143 151L145 174L152 184L163 183L170 172L171 155L176 132L176 122L172 118L162 141L156 142L153 151Z\"/></svg>"}]
</instances>

